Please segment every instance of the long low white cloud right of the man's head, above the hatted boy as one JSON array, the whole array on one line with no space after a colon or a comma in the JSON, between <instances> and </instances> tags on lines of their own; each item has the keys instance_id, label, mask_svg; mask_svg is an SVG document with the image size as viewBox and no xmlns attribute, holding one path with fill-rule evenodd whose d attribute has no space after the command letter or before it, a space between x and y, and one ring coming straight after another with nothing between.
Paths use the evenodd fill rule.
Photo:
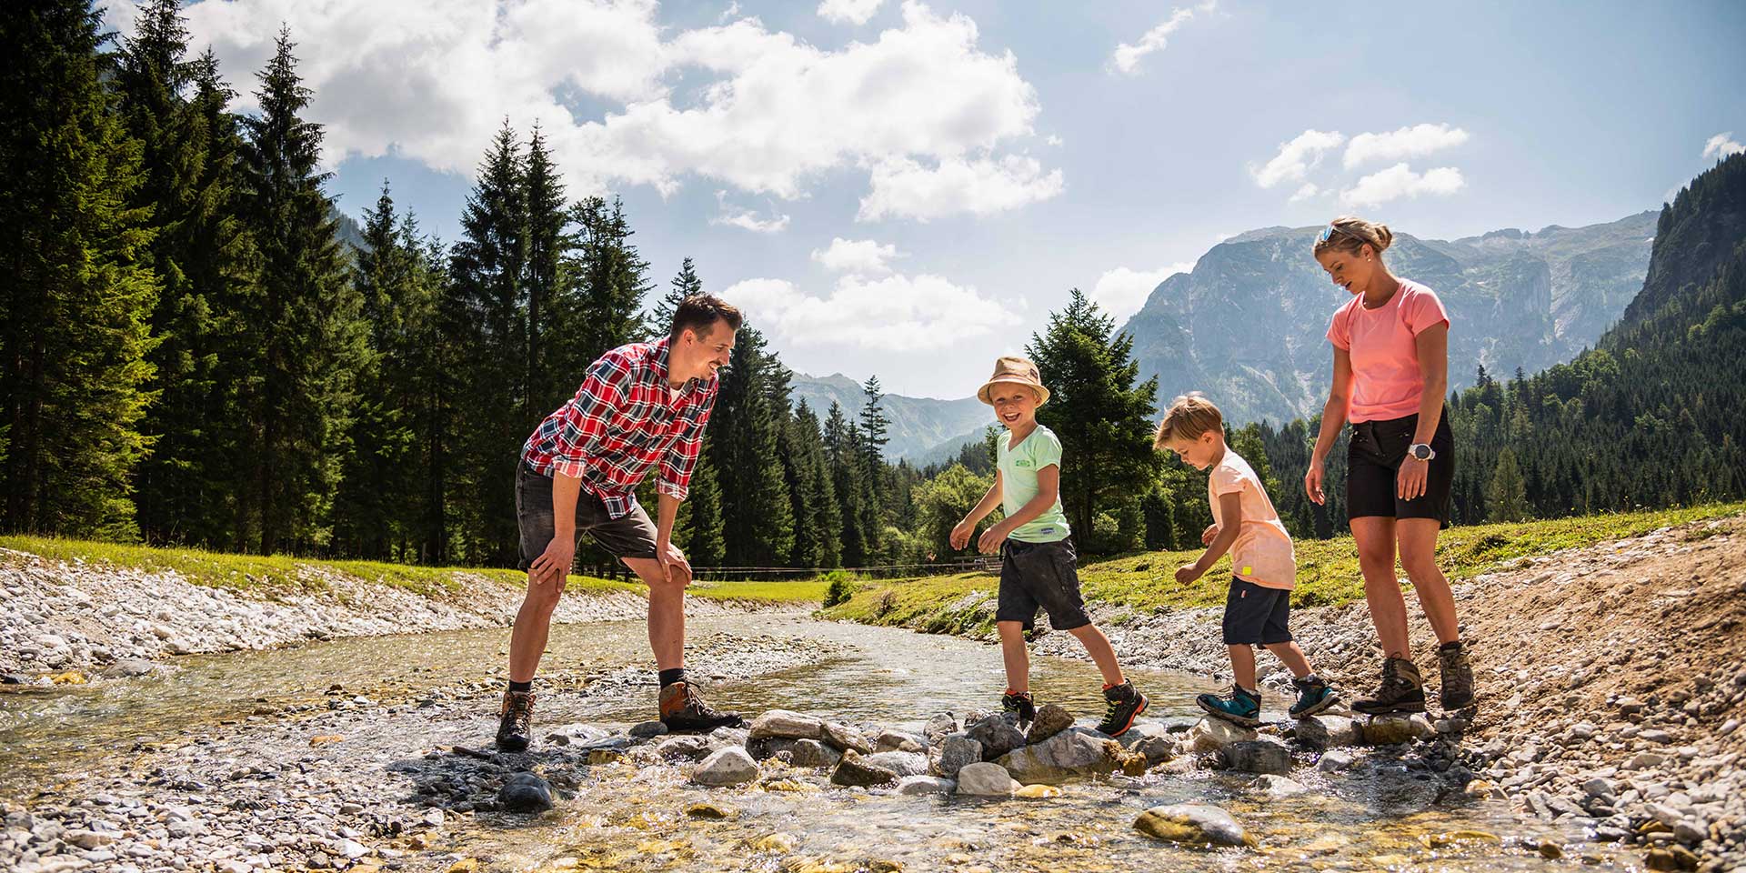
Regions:
<instances>
[{"instance_id":1,"label":"long low white cloud right of the man's head, above the hatted boy","mask_svg":"<svg viewBox=\"0 0 1746 873\"><path fill-rule=\"evenodd\" d=\"M836 346L885 353L950 349L1020 325L1004 302L941 276L843 276L828 295L786 279L746 279L721 297L784 346Z\"/></svg>"}]
</instances>

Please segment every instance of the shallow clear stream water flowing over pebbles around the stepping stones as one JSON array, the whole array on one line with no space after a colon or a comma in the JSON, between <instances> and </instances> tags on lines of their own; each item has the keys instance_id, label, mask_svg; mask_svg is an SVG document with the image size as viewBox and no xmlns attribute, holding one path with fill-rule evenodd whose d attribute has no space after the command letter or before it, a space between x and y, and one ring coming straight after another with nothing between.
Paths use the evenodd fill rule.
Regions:
<instances>
[{"instance_id":1,"label":"shallow clear stream water flowing over pebbles around the stepping stones","mask_svg":"<svg viewBox=\"0 0 1746 873\"><path fill-rule=\"evenodd\" d=\"M691 620L700 639L768 634L829 644L829 655L756 679L725 683L712 698L746 712L780 707L814 716L920 732L939 711L993 707L1004 684L995 646L892 629L814 622L794 615ZM0 796L75 780L113 754L171 740L190 725L269 721L272 707L320 704L328 690L440 688L501 670L505 630L342 639L272 651L187 656L162 676L89 688L0 695ZM643 667L644 627L634 622L553 629L548 669ZM707 663L693 663L707 670ZM1081 716L1102 711L1098 674L1086 662L1034 658L1039 700ZM1147 718L1186 718L1203 677L1130 670L1152 698ZM349 691L347 691L349 693ZM651 693L546 695L543 725L625 725L651 716ZM1280 711L1285 700L1266 700ZM1083 719L1084 723L1084 719ZM489 740L489 721L468 730ZM1378 753L1385 756L1385 753ZM765 765L766 775L780 772ZM686 782L688 768L611 763L588 766L576 796L527 819L478 814L463 850L487 870L1577 870L1629 866L1624 854L1582 843L1582 833L1523 821L1502 801L1435 801L1432 782L1406 766L1365 765L1294 777L1311 791L1269 798L1243 775L1152 772L1063 786L1049 800L899 796L840 789L821 772L739 789ZM684 814L697 801L733 807L726 821ZM1205 801L1234 814L1257 850L1200 852L1149 840L1133 819L1159 803ZM1488 836L1454 838L1460 831ZM1543 843L1568 856L1545 859ZM443 861L447 864L447 861ZM412 868L417 868L416 864ZM442 870L438 866L436 870Z\"/></svg>"}]
</instances>

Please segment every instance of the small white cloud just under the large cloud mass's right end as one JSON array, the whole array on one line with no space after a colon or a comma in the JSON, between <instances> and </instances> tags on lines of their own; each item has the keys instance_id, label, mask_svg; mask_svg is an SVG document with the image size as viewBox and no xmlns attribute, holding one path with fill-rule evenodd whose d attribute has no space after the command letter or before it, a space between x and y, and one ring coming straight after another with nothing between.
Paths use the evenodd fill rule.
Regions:
<instances>
[{"instance_id":1,"label":"small white cloud just under the large cloud mass's right end","mask_svg":"<svg viewBox=\"0 0 1746 873\"><path fill-rule=\"evenodd\" d=\"M946 157L934 168L899 157L873 166L873 190L861 199L856 220L990 215L1046 201L1065 187L1060 169L1044 173L1034 157Z\"/></svg>"}]
</instances>

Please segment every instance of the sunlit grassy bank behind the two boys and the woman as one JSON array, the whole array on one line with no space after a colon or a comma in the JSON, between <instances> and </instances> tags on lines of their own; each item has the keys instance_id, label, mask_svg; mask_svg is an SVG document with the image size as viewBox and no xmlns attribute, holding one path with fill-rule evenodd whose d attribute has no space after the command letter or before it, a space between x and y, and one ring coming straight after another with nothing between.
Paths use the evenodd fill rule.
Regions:
<instances>
[{"instance_id":1,"label":"sunlit grassy bank behind the two boys and the woman","mask_svg":"<svg viewBox=\"0 0 1746 873\"><path fill-rule=\"evenodd\" d=\"M1681 510L1451 527L1437 543L1437 559L1451 580L1463 580L1517 557L1743 513L1746 503L1720 503ZM1231 559L1220 559L1193 585L1179 585L1177 567L1196 557L1200 550L1147 552L1081 564L1079 581L1086 601L1126 606L1140 615L1222 606L1231 580ZM939 634L990 632L992 616L976 606L995 590L997 583L999 580L988 573L864 583L847 602L828 608L824 615ZM1364 578L1350 536L1297 543L1297 588L1292 592L1292 606L1337 606L1360 599L1364 599Z\"/></svg>"}]
</instances>

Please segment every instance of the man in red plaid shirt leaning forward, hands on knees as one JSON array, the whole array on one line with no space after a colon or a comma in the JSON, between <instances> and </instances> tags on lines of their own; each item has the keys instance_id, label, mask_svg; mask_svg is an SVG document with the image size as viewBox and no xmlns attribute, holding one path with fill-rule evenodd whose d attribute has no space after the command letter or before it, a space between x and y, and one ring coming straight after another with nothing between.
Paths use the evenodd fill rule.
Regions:
<instances>
[{"instance_id":1,"label":"man in red plaid shirt leaning forward, hands on knees","mask_svg":"<svg viewBox=\"0 0 1746 873\"><path fill-rule=\"evenodd\" d=\"M740 726L739 712L711 707L684 677L684 587L691 566L672 545L719 388L733 354L739 309L711 295L686 297L656 342L620 346L588 367L576 396L546 416L522 445L515 515L522 529L527 599L510 634L510 688L498 747L527 749L533 679L552 611L583 531L650 587L650 646L660 670L660 719L669 730ZM636 487L656 470L656 520Z\"/></svg>"}]
</instances>

